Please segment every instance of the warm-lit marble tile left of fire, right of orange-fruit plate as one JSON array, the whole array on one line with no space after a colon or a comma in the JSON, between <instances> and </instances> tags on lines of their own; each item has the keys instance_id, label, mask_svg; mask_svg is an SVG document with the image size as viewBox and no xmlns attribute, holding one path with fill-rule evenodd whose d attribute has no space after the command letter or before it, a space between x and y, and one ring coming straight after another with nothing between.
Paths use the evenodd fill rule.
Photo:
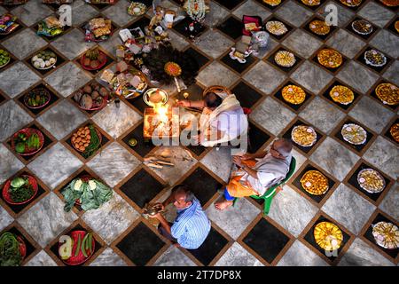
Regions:
<instances>
[{"instance_id":1,"label":"warm-lit marble tile left of fire, right of orange-fruit plate","mask_svg":"<svg viewBox=\"0 0 399 284\"><path fill-rule=\"evenodd\" d=\"M120 102L119 107L109 104L92 117L93 121L113 138L120 137L141 118L141 114L138 114L123 101Z\"/></svg>"}]
</instances>

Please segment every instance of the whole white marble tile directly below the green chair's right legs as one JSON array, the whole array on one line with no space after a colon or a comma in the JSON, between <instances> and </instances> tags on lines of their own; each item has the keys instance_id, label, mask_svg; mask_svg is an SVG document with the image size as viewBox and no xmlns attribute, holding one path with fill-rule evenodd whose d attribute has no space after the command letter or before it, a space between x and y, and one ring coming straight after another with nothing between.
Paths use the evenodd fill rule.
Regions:
<instances>
[{"instance_id":1,"label":"whole white marble tile directly below the green chair's right legs","mask_svg":"<svg viewBox=\"0 0 399 284\"><path fill-rule=\"evenodd\" d=\"M290 186L285 185L271 202L269 217L298 237L318 209Z\"/></svg>"}]
</instances>

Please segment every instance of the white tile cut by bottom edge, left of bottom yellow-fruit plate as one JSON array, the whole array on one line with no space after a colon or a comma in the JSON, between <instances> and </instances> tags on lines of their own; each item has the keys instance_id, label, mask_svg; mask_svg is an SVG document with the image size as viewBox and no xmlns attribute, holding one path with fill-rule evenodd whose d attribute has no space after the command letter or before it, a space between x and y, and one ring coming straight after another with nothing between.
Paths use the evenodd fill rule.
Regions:
<instances>
[{"instance_id":1,"label":"white tile cut by bottom edge, left of bottom yellow-fruit plate","mask_svg":"<svg viewBox=\"0 0 399 284\"><path fill-rule=\"evenodd\" d=\"M278 261L278 266L328 266L320 256L306 247L301 241L294 241L286 254Z\"/></svg>"}]
</instances>

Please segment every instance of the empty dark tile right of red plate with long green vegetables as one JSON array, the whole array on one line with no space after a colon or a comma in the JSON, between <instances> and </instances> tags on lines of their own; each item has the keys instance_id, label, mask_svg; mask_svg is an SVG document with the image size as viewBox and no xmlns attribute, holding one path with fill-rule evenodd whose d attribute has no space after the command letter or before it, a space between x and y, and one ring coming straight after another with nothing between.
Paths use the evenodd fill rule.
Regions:
<instances>
[{"instance_id":1,"label":"empty dark tile right of red plate with long green vegetables","mask_svg":"<svg viewBox=\"0 0 399 284\"><path fill-rule=\"evenodd\" d=\"M143 266L155 256L164 242L144 223L138 224L116 247L137 265Z\"/></svg>"}]
</instances>

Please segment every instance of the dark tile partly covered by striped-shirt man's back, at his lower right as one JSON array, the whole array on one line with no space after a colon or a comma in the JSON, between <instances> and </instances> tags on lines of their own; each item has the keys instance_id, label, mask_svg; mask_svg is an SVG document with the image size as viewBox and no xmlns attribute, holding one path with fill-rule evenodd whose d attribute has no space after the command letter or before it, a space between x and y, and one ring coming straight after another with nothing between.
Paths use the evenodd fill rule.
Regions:
<instances>
[{"instance_id":1,"label":"dark tile partly covered by striped-shirt man's back, at his lower right","mask_svg":"<svg viewBox=\"0 0 399 284\"><path fill-rule=\"evenodd\" d=\"M187 250L202 264L209 265L228 242L229 241L224 238L221 233L218 233L213 227L211 227L207 239L202 243L200 248Z\"/></svg>"}]
</instances>

